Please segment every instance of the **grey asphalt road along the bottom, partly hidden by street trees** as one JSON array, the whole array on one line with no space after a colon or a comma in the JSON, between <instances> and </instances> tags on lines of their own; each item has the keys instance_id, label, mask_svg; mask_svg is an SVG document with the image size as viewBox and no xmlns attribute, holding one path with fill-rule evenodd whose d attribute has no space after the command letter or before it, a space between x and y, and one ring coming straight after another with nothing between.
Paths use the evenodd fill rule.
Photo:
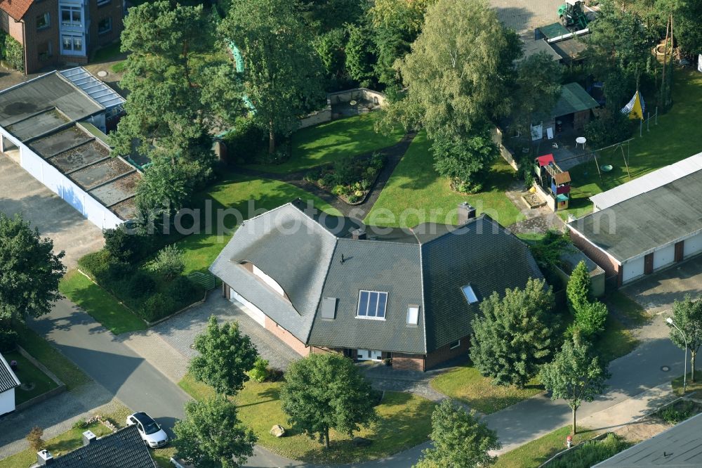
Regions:
<instances>
[{"instance_id":1,"label":"grey asphalt road along the bottom, partly hidden by street trees","mask_svg":"<svg viewBox=\"0 0 702 468\"><path fill-rule=\"evenodd\" d=\"M662 321L663 316L657 316L656 320ZM183 417L183 405L190 396L70 301L59 301L48 316L31 320L30 325L129 408L148 412L167 430ZM613 377L608 393L592 403L583 403L578 417L592 415L669 382L672 376L682 374L683 356L667 337L660 337L614 360L610 365ZM663 366L670 370L662 371ZM570 409L563 401L551 401L548 396L541 395L488 415L486 422L498 432L503 450L508 450L569 424ZM416 462L427 446L423 444L384 460L347 466L404 468ZM272 468L303 464L257 447L246 466Z\"/></svg>"}]
</instances>

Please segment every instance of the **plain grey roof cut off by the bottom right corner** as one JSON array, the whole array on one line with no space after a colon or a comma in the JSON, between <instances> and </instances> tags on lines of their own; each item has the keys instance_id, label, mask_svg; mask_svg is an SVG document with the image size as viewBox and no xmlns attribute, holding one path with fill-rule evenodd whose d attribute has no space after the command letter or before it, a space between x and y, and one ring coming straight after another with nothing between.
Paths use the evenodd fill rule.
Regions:
<instances>
[{"instance_id":1,"label":"plain grey roof cut off by the bottom right corner","mask_svg":"<svg viewBox=\"0 0 702 468\"><path fill-rule=\"evenodd\" d=\"M702 467L702 414L637 443L592 468Z\"/></svg>"}]
</instances>

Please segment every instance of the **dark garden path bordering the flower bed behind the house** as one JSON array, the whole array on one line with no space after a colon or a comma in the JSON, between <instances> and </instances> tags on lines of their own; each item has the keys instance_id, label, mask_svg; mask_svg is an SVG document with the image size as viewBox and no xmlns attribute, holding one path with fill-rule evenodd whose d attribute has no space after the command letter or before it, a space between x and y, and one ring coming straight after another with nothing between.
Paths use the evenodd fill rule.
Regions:
<instances>
[{"instance_id":1,"label":"dark garden path bordering the flower bed behind the house","mask_svg":"<svg viewBox=\"0 0 702 468\"><path fill-rule=\"evenodd\" d=\"M371 187L369 194L366 196L366 199L360 204L347 204L336 197L336 195L333 195L326 190L322 190L321 188L314 186L312 183L305 181L305 174L312 169L289 172L288 174L276 174L274 172L258 171L256 169L246 169L243 167L237 170L244 175L272 178L277 181L289 183L292 186L296 186L309 193L312 193L312 195L317 195L317 197L322 198L322 200L338 209L344 216L350 216L352 218L362 220L367 214L369 214L371 208L373 208L373 204L378 201L380 192L383 191L385 184L388 183L388 179L390 179L390 176L392 175L392 171L395 171L395 167L397 167L397 164L400 162L400 160L402 160L404 153L407 151L407 148L409 148L409 145L412 143L415 136L416 133L410 132L405 134L405 136L402 137L402 140L395 143L395 145L388 146L380 150L366 152L362 155L353 157L354 160L365 160L369 159L373 153L380 153L381 155L385 156L385 166L383 166L383 169L378 174L378 177L376 178L375 183L373 183L373 186Z\"/></svg>"}]
</instances>

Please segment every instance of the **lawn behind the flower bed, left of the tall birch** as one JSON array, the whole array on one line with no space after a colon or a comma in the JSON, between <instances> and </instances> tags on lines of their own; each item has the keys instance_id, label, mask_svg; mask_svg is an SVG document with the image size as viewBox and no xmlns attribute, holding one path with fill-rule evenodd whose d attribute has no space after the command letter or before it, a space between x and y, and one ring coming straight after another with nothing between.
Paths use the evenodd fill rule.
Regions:
<instances>
[{"instance_id":1,"label":"lawn behind the flower bed, left of the tall birch","mask_svg":"<svg viewBox=\"0 0 702 468\"><path fill-rule=\"evenodd\" d=\"M398 128L390 136L377 134L373 125L379 117L379 112L370 112L298 130L291 137L288 161L283 164L250 164L247 167L284 174L328 164L339 157L387 148L397 143L404 131Z\"/></svg>"}]
</instances>

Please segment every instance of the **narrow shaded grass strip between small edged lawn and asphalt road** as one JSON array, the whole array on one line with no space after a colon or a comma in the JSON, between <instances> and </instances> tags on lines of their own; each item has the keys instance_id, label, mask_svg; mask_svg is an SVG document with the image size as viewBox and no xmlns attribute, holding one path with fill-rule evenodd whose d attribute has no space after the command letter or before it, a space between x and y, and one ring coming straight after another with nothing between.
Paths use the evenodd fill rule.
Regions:
<instances>
[{"instance_id":1,"label":"narrow shaded grass strip between small edged lawn and asphalt road","mask_svg":"<svg viewBox=\"0 0 702 468\"><path fill-rule=\"evenodd\" d=\"M34 330L21 325L16 328L19 334L19 344L32 357L44 364L48 370L66 384L66 388L72 390L77 386L90 382L87 375L70 360L49 344L46 339L40 337Z\"/></svg>"}]
</instances>

